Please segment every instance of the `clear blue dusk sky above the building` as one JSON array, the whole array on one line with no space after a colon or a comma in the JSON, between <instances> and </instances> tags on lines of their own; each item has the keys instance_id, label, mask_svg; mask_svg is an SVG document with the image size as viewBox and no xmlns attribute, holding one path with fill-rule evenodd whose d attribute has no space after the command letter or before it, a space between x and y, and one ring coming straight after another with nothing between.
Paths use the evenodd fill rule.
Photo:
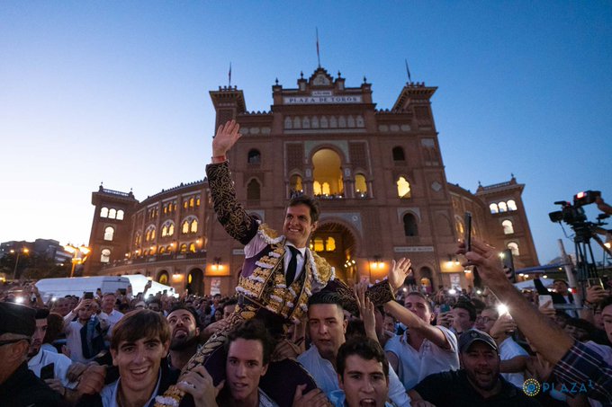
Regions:
<instances>
[{"instance_id":1,"label":"clear blue dusk sky above the building","mask_svg":"<svg viewBox=\"0 0 612 407\"><path fill-rule=\"evenodd\" d=\"M321 66L347 86L366 76L379 109L401 93L405 58L438 87L447 180L474 191L514 173L542 263L559 238L573 252L554 201L612 201L609 1L4 0L0 242L87 243L101 181L142 200L201 180L208 92L229 63L247 110L268 111L275 78L293 88L317 67L316 28Z\"/></svg>"}]
</instances>

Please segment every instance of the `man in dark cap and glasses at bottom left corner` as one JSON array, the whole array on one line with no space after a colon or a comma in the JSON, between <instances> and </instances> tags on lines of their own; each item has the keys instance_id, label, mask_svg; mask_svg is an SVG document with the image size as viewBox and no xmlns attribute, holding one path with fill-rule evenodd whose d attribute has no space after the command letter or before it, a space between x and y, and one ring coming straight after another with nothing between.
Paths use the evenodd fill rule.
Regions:
<instances>
[{"instance_id":1,"label":"man in dark cap and glasses at bottom left corner","mask_svg":"<svg viewBox=\"0 0 612 407\"><path fill-rule=\"evenodd\" d=\"M58 393L28 369L36 311L18 304L0 303L0 404L3 407L63 405Z\"/></svg>"}]
</instances>

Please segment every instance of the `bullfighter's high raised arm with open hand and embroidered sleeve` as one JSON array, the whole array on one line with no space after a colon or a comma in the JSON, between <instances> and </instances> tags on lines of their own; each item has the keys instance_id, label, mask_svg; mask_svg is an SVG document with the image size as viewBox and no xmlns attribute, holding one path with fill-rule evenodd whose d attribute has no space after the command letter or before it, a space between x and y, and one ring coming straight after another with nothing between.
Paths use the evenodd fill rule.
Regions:
<instances>
[{"instance_id":1,"label":"bullfighter's high raised arm with open hand and embroidered sleeve","mask_svg":"<svg viewBox=\"0 0 612 407\"><path fill-rule=\"evenodd\" d=\"M242 244L247 244L257 234L257 221L250 217L236 199L234 181L229 173L226 154L236 144L240 125L228 121L217 130L212 139L212 163L206 166L206 176L211 189L214 211L226 232Z\"/></svg>"}]
</instances>

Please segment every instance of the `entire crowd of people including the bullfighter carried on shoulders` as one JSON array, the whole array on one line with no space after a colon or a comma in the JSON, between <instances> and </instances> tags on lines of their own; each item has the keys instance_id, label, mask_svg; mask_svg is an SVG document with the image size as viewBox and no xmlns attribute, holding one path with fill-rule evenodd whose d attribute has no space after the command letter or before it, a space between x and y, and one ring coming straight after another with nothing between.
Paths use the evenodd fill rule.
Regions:
<instances>
[{"instance_id":1,"label":"entire crowd of people including the bullfighter carried on shoulders","mask_svg":"<svg viewBox=\"0 0 612 407\"><path fill-rule=\"evenodd\" d=\"M406 286L408 259L348 287L308 248L316 200L293 197L282 235L238 205L226 154L239 137L221 126L207 167L220 224L245 245L236 293L2 295L0 405L612 405L609 286L566 306L560 279L540 301L539 281L519 291L473 239L457 254L482 290Z\"/></svg>"}]
</instances>

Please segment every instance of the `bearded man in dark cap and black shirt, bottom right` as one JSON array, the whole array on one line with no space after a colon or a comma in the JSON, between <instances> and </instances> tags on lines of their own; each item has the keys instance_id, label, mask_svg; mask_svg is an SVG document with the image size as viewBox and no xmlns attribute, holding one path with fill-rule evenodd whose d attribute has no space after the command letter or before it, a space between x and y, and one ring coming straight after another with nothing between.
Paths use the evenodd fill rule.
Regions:
<instances>
[{"instance_id":1,"label":"bearded man in dark cap and black shirt, bottom right","mask_svg":"<svg viewBox=\"0 0 612 407\"><path fill-rule=\"evenodd\" d=\"M485 332L464 332L459 352L463 368L427 376L409 392L413 407L427 403L437 407L540 405L500 376L497 343Z\"/></svg>"}]
</instances>

